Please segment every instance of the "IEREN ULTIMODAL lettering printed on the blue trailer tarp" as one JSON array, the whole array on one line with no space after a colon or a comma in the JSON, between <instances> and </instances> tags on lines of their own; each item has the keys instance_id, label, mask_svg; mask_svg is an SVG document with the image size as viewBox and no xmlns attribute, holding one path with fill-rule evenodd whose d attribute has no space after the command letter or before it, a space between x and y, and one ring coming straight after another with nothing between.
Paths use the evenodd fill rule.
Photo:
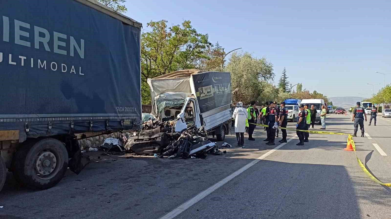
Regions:
<instances>
[{"instance_id":1,"label":"IEREN ULTIMODAL lettering printed on the blue trailer tarp","mask_svg":"<svg viewBox=\"0 0 391 219\"><path fill-rule=\"evenodd\" d=\"M10 24L12 25L12 20L10 22L9 17L2 16L3 19L3 41L10 42ZM11 30L14 31L14 39L11 39L11 42L15 44L32 47L35 49L45 49L48 52L53 51L54 53L61 55L69 55L71 57L75 57L75 50L77 55L84 59L84 39L80 39L80 43L78 44L73 36L68 36L59 32L52 32L45 28L39 26L33 26L29 23L25 23L23 21L19 21L17 19L13 20L14 28ZM34 39L30 38L30 29L34 29ZM50 37L53 37L53 44L50 44L52 48L49 46ZM30 42L31 41L31 42ZM68 43L68 46L67 46ZM32 45L34 44L34 45ZM66 50L64 50L66 49ZM47 60L41 60L32 57L25 57L22 55L15 54L3 54L0 52L0 63L8 58L8 64L10 65L30 65L30 67L38 67L39 69L51 69L52 71L60 71L61 72L69 72L76 74L78 71L79 75L84 75L81 71L81 67L76 67L74 65L67 64L57 64L57 62L47 62ZM27 61L28 60L28 61Z\"/></svg>"}]
</instances>

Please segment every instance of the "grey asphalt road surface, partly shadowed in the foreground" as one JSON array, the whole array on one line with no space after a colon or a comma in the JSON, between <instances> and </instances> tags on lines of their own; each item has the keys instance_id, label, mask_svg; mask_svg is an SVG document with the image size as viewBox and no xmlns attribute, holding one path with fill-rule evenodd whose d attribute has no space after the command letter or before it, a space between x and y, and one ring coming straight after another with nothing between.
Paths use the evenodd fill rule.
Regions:
<instances>
[{"instance_id":1,"label":"grey asphalt road surface, partly shadowed in the foreground","mask_svg":"<svg viewBox=\"0 0 391 219\"><path fill-rule=\"evenodd\" d=\"M349 114L326 122L326 131L353 132ZM354 138L357 156L391 182L391 118L368 123L369 117L366 137ZM233 145L234 134L226 139ZM289 131L292 140L273 147L262 141L263 128L255 137L244 149L206 159L104 157L44 191L18 187L9 174L0 218L391 218L391 189L373 182L354 152L343 150L345 135L310 134L310 142L296 146Z\"/></svg>"}]
</instances>

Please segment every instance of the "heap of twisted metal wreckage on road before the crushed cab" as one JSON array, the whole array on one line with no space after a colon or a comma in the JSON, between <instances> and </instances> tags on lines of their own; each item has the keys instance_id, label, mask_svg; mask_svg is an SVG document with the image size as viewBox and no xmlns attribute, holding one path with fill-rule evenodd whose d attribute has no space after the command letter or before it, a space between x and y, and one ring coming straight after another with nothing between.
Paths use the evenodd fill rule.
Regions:
<instances>
[{"instance_id":1,"label":"heap of twisted metal wreckage on road before the crushed cab","mask_svg":"<svg viewBox=\"0 0 391 219\"><path fill-rule=\"evenodd\" d=\"M138 155L156 154L157 157L175 158L205 158L208 153L220 155L222 152L217 143L208 140L204 126L197 129L190 126L181 132L175 131L175 123L170 120L161 122L148 120L142 128L133 134L120 134L120 145L126 152ZM225 153L225 151L224 151Z\"/></svg>"}]
</instances>

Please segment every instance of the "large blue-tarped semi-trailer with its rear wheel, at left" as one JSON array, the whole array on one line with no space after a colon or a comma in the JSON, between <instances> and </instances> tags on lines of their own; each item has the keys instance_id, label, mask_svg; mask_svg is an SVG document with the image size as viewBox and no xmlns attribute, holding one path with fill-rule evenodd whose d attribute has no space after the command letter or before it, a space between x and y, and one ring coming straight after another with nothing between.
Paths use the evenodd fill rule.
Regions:
<instances>
[{"instance_id":1,"label":"large blue-tarped semi-trailer with its rear wheel, at left","mask_svg":"<svg viewBox=\"0 0 391 219\"><path fill-rule=\"evenodd\" d=\"M91 0L4 1L0 15L0 190L6 169L34 189L78 174L75 134L140 129L141 23Z\"/></svg>"}]
</instances>

